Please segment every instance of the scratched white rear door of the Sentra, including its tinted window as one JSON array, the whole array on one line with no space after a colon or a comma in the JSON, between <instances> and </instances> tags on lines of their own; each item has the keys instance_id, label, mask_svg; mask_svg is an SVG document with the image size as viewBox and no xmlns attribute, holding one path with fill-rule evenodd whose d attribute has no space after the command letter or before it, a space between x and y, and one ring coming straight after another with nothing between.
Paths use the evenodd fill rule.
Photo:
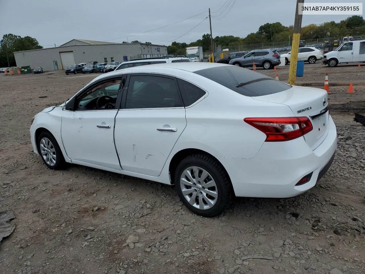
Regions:
<instances>
[{"instance_id":1,"label":"scratched white rear door of the Sentra, including its tinted window","mask_svg":"<svg viewBox=\"0 0 365 274\"><path fill-rule=\"evenodd\" d=\"M115 119L115 146L123 170L158 176L185 129L176 79L131 75Z\"/></svg>"}]
</instances>

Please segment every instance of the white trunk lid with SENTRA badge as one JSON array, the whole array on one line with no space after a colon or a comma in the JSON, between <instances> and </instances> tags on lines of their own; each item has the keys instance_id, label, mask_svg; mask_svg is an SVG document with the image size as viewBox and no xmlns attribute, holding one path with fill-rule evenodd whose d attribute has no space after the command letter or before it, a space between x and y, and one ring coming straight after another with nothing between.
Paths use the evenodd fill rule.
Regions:
<instances>
[{"instance_id":1,"label":"white trunk lid with SENTRA badge","mask_svg":"<svg viewBox=\"0 0 365 274\"><path fill-rule=\"evenodd\" d=\"M293 86L274 94L252 97L263 102L287 105L296 117L308 117L313 130L304 135L314 150L326 137L329 118L327 92L319 88Z\"/></svg>"}]
</instances>

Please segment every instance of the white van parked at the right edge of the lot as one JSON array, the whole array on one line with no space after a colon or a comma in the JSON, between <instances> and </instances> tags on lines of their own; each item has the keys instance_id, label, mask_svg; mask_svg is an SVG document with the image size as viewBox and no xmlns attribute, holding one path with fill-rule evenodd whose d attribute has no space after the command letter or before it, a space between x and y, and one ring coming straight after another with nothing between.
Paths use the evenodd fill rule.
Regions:
<instances>
[{"instance_id":1,"label":"white van parked at the right edge of the lot","mask_svg":"<svg viewBox=\"0 0 365 274\"><path fill-rule=\"evenodd\" d=\"M343 43L323 56L323 64L333 68L341 63L365 62L365 40Z\"/></svg>"}]
</instances>

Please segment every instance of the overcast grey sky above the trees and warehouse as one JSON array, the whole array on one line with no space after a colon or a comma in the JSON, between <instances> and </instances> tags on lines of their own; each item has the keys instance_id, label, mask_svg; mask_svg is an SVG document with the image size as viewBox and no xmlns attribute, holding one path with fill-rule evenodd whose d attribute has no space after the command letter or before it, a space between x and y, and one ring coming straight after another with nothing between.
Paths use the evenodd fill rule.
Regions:
<instances>
[{"instance_id":1,"label":"overcast grey sky above the trees and warehouse","mask_svg":"<svg viewBox=\"0 0 365 274\"><path fill-rule=\"evenodd\" d=\"M357 2L363 3L365 8L365 0L310 0L310 2ZM211 8L212 16L216 16L212 17L213 37L222 35L246 37L265 23L281 22L284 26L294 23L295 0L237 0L228 14L226 12L230 6L225 11L225 7L220 9L224 3L226 0L0 0L0 35L1 37L8 33L22 37L28 35L36 38L44 47L61 45L71 39L109 42L122 42L128 39L129 42L138 40L169 45L171 41L196 41L204 33L209 33L207 18L191 32L178 38L207 17L208 8ZM132 35L204 11L206 11L204 14L172 26ZM339 22L349 16L351 15L305 15L302 26L331 20Z\"/></svg>"}]
</instances>

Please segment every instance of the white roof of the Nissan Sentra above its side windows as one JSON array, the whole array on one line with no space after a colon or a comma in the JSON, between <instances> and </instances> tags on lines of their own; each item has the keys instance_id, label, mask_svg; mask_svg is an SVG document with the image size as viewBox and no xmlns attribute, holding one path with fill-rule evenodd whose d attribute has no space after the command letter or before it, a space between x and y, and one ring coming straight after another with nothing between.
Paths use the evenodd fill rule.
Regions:
<instances>
[{"instance_id":1,"label":"white roof of the Nissan Sentra above its side windows","mask_svg":"<svg viewBox=\"0 0 365 274\"><path fill-rule=\"evenodd\" d=\"M93 79L91 82L110 77L115 75L123 75L126 73L161 73L174 75L175 70L182 70L187 72L196 72L201 69L214 68L216 66L232 66L221 63L210 63L210 62L177 62L177 63L161 63L151 64L147 66L133 66L131 68L119 69L100 75Z\"/></svg>"}]
</instances>

